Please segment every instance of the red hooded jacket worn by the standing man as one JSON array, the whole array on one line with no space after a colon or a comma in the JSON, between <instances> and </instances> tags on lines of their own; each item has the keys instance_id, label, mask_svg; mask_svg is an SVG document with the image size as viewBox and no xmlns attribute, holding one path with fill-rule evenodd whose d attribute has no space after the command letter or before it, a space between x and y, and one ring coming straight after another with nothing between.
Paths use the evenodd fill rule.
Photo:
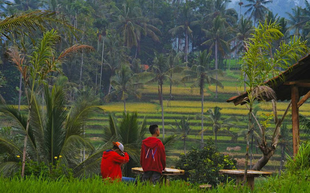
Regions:
<instances>
[{"instance_id":1,"label":"red hooded jacket worn by the standing man","mask_svg":"<svg viewBox=\"0 0 310 193\"><path fill-rule=\"evenodd\" d=\"M166 167L166 154L160 139L147 137L142 141L140 164L145 172L155 171L162 174Z\"/></svg>"}]
</instances>

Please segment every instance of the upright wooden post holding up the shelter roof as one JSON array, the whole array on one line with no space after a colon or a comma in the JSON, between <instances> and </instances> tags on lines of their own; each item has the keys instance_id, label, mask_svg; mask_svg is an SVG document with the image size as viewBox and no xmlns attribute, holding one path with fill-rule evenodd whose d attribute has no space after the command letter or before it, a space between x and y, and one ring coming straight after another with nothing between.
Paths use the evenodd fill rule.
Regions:
<instances>
[{"instance_id":1,"label":"upright wooden post holding up the shelter roof","mask_svg":"<svg viewBox=\"0 0 310 193\"><path fill-rule=\"evenodd\" d=\"M293 156L298 152L299 148L299 108L297 103L299 101L298 87L292 86L292 135L293 135Z\"/></svg>"}]
</instances>

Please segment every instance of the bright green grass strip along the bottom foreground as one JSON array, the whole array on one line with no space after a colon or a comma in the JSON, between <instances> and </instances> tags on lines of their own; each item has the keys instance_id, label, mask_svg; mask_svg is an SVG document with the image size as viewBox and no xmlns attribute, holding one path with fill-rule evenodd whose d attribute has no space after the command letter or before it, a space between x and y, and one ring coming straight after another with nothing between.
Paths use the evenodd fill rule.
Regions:
<instances>
[{"instance_id":1,"label":"bright green grass strip along the bottom foreground","mask_svg":"<svg viewBox=\"0 0 310 193\"><path fill-rule=\"evenodd\" d=\"M310 170L299 172L288 172L281 176L260 178L255 180L255 190L251 191L247 187L234 187L234 181L225 185L219 185L210 189L210 193L307 193L309 192ZM143 185L142 183L126 184L122 182L103 182L100 176L89 179L65 179L50 180L42 177L27 176L21 180L18 176L0 179L0 191L5 193L180 193L180 192L202 192L199 185L188 184L187 182L176 180L170 181L170 186Z\"/></svg>"}]
</instances>

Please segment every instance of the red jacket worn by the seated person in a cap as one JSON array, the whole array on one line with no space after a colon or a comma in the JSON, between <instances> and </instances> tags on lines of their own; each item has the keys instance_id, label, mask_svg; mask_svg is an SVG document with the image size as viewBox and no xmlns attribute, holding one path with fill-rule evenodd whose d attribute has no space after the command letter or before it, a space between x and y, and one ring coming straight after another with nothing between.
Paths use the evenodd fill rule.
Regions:
<instances>
[{"instance_id":1,"label":"red jacket worn by the seated person in a cap","mask_svg":"<svg viewBox=\"0 0 310 193\"><path fill-rule=\"evenodd\" d=\"M101 159L102 178L122 179L121 165L129 161L128 154L126 152L124 154L125 156L123 157L112 150L103 152Z\"/></svg>"}]
</instances>

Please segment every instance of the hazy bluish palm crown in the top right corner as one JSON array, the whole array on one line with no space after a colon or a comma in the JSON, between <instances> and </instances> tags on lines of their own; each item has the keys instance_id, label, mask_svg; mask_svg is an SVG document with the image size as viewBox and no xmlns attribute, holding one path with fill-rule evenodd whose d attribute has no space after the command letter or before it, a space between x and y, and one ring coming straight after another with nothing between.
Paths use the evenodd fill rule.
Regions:
<instances>
[{"instance_id":1,"label":"hazy bluish palm crown in the top right corner","mask_svg":"<svg viewBox=\"0 0 310 193\"><path fill-rule=\"evenodd\" d=\"M300 37L303 26L307 22L307 18L303 14L303 9L299 6L292 9L291 13L286 13L289 16L288 24L290 25L288 33L293 31L293 35Z\"/></svg>"}]
</instances>

